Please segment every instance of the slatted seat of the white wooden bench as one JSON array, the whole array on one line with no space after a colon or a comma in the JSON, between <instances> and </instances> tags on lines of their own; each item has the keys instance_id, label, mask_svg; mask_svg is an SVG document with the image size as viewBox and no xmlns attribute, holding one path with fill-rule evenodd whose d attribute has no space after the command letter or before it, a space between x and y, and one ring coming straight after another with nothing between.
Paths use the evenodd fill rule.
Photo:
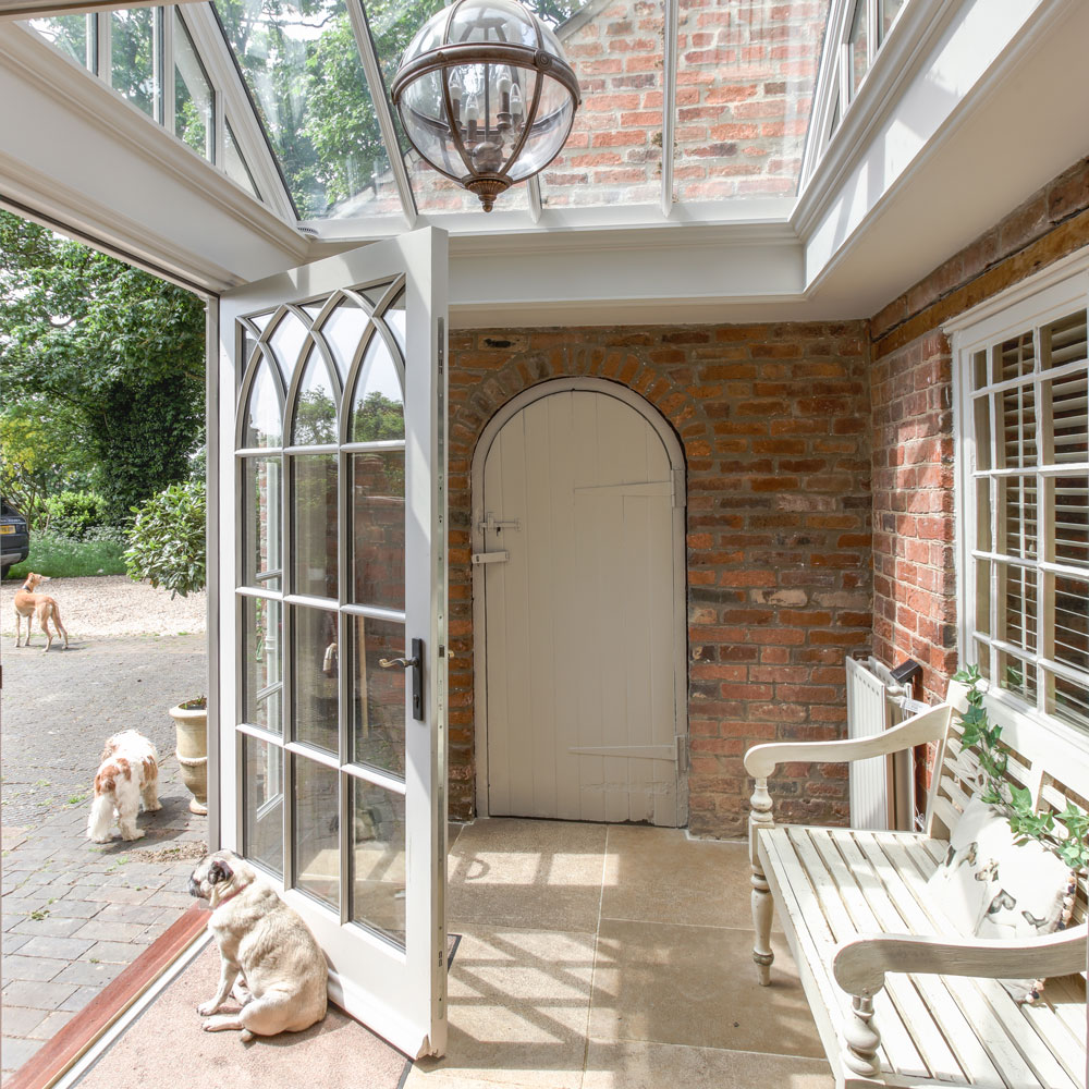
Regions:
<instances>
[{"instance_id":1,"label":"slatted seat of the white wooden bench","mask_svg":"<svg viewBox=\"0 0 1089 1089\"><path fill-rule=\"evenodd\" d=\"M761 830L758 844L828 1047L851 1016L851 998L832 976L837 945L867 933L951 932L927 884L949 844L917 833L788 825ZM995 979L891 972L873 1001L881 1078L1081 1089L1085 1002L1080 976L1053 978L1041 1002L1021 1005Z\"/></svg>"}]
</instances>

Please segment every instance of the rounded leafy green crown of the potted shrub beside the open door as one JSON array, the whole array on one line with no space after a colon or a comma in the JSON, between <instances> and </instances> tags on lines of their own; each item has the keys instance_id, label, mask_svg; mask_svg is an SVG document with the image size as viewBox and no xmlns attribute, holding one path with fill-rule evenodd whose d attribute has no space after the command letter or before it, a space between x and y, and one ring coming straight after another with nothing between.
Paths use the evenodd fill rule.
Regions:
<instances>
[{"instance_id":1,"label":"rounded leafy green crown of the potted shrub beside the open door","mask_svg":"<svg viewBox=\"0 0 1089 1089\"><path fill-rule=\"evenodd\" d=\"M126 535L129 577L148 579L152 586L184 598L201 590L205 564L205 486L203 480L172 484L143 506Z\"/></svg>"}]
</instances>

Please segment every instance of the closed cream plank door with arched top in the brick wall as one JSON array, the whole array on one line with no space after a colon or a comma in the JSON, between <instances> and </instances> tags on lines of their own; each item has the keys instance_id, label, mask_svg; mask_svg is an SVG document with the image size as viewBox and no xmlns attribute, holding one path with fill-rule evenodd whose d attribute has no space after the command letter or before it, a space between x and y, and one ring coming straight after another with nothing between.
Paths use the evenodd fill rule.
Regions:
<instances>
[{"instance_id":1,"label":"closed cream plank door with arched top in the brick wall","mask_svg":"<svg viewBox=\"0 0 1089 1089\"><path fill-rule=\"evenodd\" d=\"M678 823L674 480L602 392L534 401L485 454L492 816Z\"/></svg>"}]
</instances>

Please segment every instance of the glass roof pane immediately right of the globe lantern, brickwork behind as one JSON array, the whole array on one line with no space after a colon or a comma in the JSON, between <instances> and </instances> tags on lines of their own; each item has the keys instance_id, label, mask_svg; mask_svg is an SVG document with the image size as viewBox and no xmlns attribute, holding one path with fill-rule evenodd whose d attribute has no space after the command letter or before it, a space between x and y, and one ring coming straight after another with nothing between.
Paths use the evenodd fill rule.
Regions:
<instances>
[{"instance_id":1,"label":"glass roof pane immediately right of the globe lantern, brickwork behind","mask_svg":"<svg viewBox=\"0 0 1089 1089\"><path fill-rule=\"evenodd\" d=\"M662 194L662 0L570 4L556 35L583 105L541 173L546 207L658 204Z\"/></svg>"}]
</instances>

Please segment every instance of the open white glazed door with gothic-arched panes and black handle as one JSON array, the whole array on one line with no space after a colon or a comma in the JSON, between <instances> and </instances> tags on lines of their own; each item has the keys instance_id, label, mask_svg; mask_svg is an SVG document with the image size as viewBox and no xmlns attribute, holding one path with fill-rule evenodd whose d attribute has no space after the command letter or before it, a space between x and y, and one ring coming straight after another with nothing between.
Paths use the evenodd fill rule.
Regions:
<instances>
[{"instance_id":1,"label":"open white glazed door with gothic-arched panes and black handle","mask_svg":"<svg viewBox=\"0 0 1089 1089\"><path fill-rule=\"evenodd\" d=\"M446 1035L445 316L428 229L231 291L219 322L223 846L412 1056Z\"/></svg>"}]
</instances>

